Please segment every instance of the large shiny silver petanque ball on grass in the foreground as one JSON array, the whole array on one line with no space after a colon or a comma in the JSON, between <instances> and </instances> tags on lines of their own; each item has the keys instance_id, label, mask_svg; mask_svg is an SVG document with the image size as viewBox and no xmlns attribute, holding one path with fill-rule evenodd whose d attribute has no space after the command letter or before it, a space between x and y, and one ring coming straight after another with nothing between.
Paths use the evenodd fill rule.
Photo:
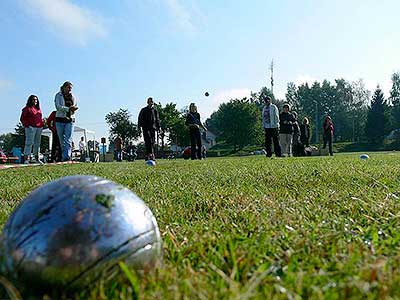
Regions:
<instances>
[{"instance_id":1,"label":"large shiny silver petanque ball on grass in the foreground","mask_svg":"<svg viewBox=\"0 0 400 300\"><path fill-rule=\"evenodd\" d=\"M28 195L0 238L0 274L17 289L74 291L162 259L150 209L129 189L95 176L70 176Z\"/></svg>"}]
</instances>

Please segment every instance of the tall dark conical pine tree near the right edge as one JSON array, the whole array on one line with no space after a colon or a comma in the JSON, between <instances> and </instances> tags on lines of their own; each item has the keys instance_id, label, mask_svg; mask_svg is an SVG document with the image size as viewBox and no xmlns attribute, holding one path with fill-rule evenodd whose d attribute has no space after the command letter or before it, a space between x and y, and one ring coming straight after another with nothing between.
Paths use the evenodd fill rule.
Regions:
<instances>
[{"instance_id":1,"label":"tall dark conical pine tree near the right edge","mask_svg":"<svg viewBox=\"0 0 400 300\"><path fill-rule=\"evenodd\" d=\"M385 136L386 125L386 101L379 86L372 96L371 106L368 109L367 123L365 124L365 135L374 144L382 143Z\"/></svg>"}]
</instances>

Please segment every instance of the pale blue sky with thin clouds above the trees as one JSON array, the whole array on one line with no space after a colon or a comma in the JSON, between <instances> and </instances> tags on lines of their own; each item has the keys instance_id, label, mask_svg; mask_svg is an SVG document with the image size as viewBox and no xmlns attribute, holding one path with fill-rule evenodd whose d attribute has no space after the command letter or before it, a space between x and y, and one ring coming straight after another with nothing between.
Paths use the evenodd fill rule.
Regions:
<instances>
[{"instance_id":1,"label":"pale blue sky with thin clouds above the trees","mask_svg":"<svg viewBox=\"0 0 400 300\"><path fill-rule=\"evenodd\" d=\"M152 96L205 118L230 98L313 80L362 78L390 89L400 70L398 0L1 0L0 133L30 94L44 115L70 80L77 125L108 136L104 116ZM208 91L210 96L204 97Z\"/></svg>"}]
</instances>

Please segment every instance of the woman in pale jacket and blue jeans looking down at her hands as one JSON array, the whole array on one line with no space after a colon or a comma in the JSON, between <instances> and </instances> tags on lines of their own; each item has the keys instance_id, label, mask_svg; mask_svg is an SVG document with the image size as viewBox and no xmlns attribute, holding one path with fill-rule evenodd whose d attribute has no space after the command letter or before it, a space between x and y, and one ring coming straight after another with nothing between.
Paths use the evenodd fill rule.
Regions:
<instances>
[{"instance_id":1,"label":"woman in pale jacket and blue jeans looking down at her hands","mask_svg":"<svg viewBox=\"0 0 400 300\"><path fill-rule=\"evenodd\" d=\"M56 128L63 161L72 159L72 132L74 130L75 111L78 109L77 101L72 95L72 87L71 82L64 82L54 99L57 110Z\"/></svg>"}]
</instances>

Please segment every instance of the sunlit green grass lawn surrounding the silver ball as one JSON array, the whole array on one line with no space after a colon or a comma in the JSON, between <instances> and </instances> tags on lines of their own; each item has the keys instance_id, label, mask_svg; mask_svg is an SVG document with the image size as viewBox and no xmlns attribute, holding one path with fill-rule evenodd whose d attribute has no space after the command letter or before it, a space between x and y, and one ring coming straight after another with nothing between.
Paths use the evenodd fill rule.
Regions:
<instances>
[{"instance_id":1,"label":"sunlit green grass lawn surrounding the silver ball","mask_svg":"<svg viewBox=\"0 0 400 300\"><path fill-rule=\"evenodd\" d=\"M143 161L0 171L0 228L50 180L93 174L141 197L164 266L77 299L385 299L400 295L400 154Z\"/></svg>"}]
</instances>

